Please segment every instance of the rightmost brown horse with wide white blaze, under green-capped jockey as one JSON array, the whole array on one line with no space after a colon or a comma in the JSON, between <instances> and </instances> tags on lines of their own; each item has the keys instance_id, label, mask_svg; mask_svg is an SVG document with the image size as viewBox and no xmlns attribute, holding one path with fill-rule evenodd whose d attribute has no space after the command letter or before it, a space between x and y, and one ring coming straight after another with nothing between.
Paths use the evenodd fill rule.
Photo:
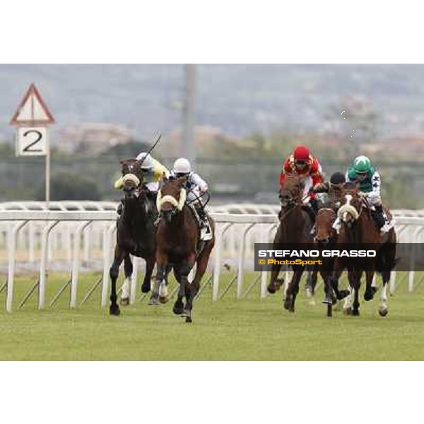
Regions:
<instances>
[{"instance_id":1,"label":"rightmost brown horse with wide white blaze, under green-capped jockey","mask_svg":"<svg viewBox=\"0 0 424 424\"><path fill-rule=\"evenodd\" d=\"M338 235L337 246L343 249L343 244L348 243L351 247L363 249L375 249L376 257L347 258L337 257L334 262L332 278L337 283L344 268L353 271L349 278L349 284L353 291L352 314L359 315L359 289L360 278L365 271L366 288L364 299L372 300L376 289L372 287L372 279L375 271L381 273L383 286L380 296L379 314L385 317L389 312L387 307L387 283L391 271L396 266L396 232L391 228L388 232L380 233L374 218L370 204L366 197L358 192L356 185L345 184L343 196L344 204L338 209L338 218L341 221L341 229ZM386 210L389 214L389 211Z\"/></svg>"}]
</instances>

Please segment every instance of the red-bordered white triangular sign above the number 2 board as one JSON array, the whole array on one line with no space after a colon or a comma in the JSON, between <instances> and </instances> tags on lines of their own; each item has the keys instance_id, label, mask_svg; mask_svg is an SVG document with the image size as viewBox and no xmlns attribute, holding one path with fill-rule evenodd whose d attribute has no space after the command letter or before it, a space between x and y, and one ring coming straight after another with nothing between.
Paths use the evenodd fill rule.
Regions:
<instances>
[{"instance_id":1,"label":"red-bordered white triangular sign above the number 2 board","mask_svg":"<svg viewBox=\"0 0 424 424\"><path fill-rule=\"evenodd\" d=\"M42 125L53 124L54 118L34 84L30 85L22 102L18 106L13 118L12 125Z\"/></svg>"}]
</instances>

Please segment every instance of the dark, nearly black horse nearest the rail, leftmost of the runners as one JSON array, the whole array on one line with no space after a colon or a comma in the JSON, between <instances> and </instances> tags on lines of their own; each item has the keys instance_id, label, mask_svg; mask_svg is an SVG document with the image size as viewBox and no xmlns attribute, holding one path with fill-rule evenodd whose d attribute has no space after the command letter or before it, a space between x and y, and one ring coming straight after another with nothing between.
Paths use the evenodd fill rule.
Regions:
<instances>
[{"instance_id":1,"label":"dark, nearly black horse nearest the rail, leftmost of the runners","mask_svg":"<svg viewBox=\"0 0 424 424\"><path fill-rule=\"evenodd\" d=\"M110 268L112 288L110 294L110 314L119 315L117 305L117 278L119 266L124 261L126 281L129 281L133 272L130 254L146 260L146 274L141 291L148 293L151 290L151 276L155 267L155 226L158 218L158 209L155 196L143 185L141 161L136 159L121 161L122 182L124 182L123 211L117 220L117 244L114 250L114 261ZM164 300L165 301L165 300Z\"/></svg>"}]
</instances>

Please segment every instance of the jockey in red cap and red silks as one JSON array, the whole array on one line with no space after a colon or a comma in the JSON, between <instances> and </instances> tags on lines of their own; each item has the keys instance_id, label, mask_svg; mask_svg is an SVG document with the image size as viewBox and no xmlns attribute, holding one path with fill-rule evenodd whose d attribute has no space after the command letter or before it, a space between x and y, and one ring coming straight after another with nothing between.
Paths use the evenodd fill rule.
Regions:
<instances>
[{"instance_id":1,"label":"jockey in red cap and red silks","mask_svg":"<svg viewBox=\"0 0 424 424\"><path fill-rule=\"evenodd\" d=\"M317 213L318 204L314 193L310 192L317 184L321 184L322 167L317 158L311 155L309 148L298 146L293 153L284 161L280 175L280 186L283 185L288 175L305 175L304 196L307 196L304 203L310 204L314 214ZM309 196L308 196L309 194Z\"/></svg>"}]
</instances>

